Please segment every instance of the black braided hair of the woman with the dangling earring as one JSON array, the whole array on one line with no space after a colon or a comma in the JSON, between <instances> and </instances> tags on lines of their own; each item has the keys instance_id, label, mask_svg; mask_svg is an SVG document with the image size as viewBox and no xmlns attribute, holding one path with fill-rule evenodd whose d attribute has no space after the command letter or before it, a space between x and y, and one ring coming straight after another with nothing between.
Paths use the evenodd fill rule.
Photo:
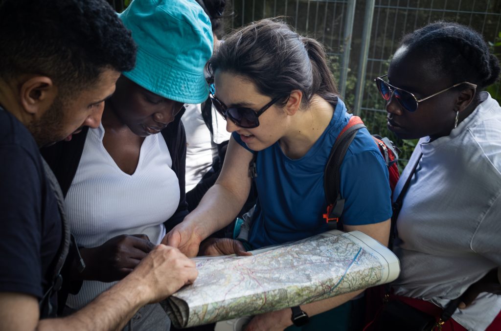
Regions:
<instances>
[{"instance_id":1,"label":"black braided hair of the woman with the dangling earring","mask_svg":"<svg viewBox=\"0 0 501 331\"><path fill-rule=\"evenodd\" d=\"M480 89L499 77L499 60L475 30L453 22L429 24L403 37L400 46L425 50L453 83L467 81Z\"/></svg>"}]
</instances>

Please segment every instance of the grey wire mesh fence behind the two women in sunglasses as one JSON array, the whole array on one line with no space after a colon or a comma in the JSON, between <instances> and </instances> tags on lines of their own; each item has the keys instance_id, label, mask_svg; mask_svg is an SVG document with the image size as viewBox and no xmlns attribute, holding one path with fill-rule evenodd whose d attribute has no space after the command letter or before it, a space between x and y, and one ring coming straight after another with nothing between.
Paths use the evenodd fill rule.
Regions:
<instances>
[{"instance_id":1,"label":"grey wire mesh fence behind the two women in sunglasses","mask_svg":"<svg viewBox=\"0 0 501 331\"><path fill-rule=\"evenodd\" d=\"M402 149L401 165L416 141L402 141L388 131L385 104L373 83L375 77L386 74L401 37L438 20L468 25L492 44L501 37L501 0L234 0L228 26L237 28L276 16L326 46L347 107L362 117L371 132L397 143ZM489 89L498 100L500 86Z\"/></svg>"}]
</instances>

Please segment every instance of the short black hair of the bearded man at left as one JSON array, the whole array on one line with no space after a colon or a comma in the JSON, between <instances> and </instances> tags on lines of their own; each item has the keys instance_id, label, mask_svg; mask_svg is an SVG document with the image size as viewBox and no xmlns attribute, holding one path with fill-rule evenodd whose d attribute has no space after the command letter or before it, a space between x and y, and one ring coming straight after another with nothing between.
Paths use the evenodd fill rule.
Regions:
<instances>
[{"instance_id":1,"label":"short black hair of the bearded man at left","mask_svg":"<svg viewBox=\"0 0 501 331\"><path fill-rule=\"evenodd\" d=\"M67 94L136 60L131 33L105 0L4 0L0 31L0 77L44 75Z\"/></svg>"}]
</instances>

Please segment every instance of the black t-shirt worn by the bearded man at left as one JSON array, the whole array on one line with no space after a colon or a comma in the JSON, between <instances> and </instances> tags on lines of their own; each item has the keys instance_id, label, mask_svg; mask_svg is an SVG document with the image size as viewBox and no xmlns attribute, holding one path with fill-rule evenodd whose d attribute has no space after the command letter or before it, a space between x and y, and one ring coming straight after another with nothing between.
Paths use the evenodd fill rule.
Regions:
<instances>
[{"instance_id":1,"label":"black t-shirt worn by the bearded man at left","mask_svg":"<svg viewBox=\"0 0 501 331\"><path fill-rule=\"evenodd\" d=\"M61 215L38 146L28 129L0 107L0 292L40 300L61 240Z\"/></svg>"}]
</instances>

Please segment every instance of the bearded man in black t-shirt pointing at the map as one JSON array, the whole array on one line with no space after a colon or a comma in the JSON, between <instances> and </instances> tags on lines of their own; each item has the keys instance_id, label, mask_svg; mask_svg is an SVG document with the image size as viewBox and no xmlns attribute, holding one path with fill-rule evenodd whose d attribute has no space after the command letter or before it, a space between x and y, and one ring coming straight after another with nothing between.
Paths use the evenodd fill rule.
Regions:
<instances>
[{"instance_id":1,"label":"bearded man in black t-shirt pointing at the map","mask_svg":"<svg viewBox=\"0 0 501 331\"><path fill-rule=\"evenodd\" d=\"M38 148L99 126L120 72L134 66L135 45L104 0L0 4L0 330L119 329L141 306L193 281L195 264L175 248L151 247L89 305L46 318L55 309L42 308L43 296L66 231Z\"/></svg>"}]
</instances>

